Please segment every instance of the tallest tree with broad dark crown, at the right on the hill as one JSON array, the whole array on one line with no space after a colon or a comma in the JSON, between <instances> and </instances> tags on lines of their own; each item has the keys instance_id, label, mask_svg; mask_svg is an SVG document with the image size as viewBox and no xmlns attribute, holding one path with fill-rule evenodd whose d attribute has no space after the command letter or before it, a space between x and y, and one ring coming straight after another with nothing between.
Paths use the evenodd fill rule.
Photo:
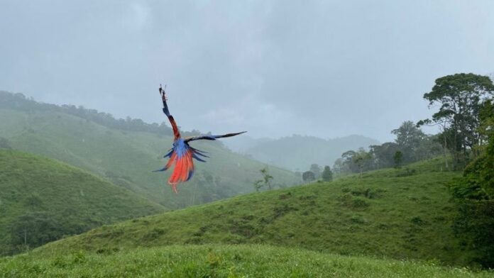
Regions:
<instances>
[{"instance_id":1,"label":"tallest tree with broad dark crown, at the right on the hill","mask_svg":"<svg viewBox=\"0 0 494 278\"><path fill-rule=\"evenodd\" d=\"M477 74L454 74L436 79L432 91L424 94L429 101L429 108L439 104L439 111L432 119L420 121L419 124L438 124L449 131L452 151L456 165L466 163L469 152L478 145L478 112L485 99L494 94L494 84L489 79ZM446 135L446 133L445 133Z\"/></svg>"}]
</instances>

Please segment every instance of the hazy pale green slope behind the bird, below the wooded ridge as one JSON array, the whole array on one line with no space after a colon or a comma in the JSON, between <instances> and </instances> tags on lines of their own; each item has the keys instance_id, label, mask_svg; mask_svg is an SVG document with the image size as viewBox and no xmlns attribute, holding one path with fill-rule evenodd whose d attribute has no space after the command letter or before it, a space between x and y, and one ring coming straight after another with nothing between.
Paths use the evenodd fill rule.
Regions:
<instances>
[{"instance_id":1,"label":"hazy pale green slope behind the bird, below the wooded ridge","mask_svg":"<svg viewBox=\"0 0 494 278\"><path fill-rule=\"evenodd\" d=\"M166 184L169 172L151 172L163 167L162 156L171 147L170 137L106 128L53 111L0 109L0 118L0 134L13 148L82 167L171 208L251 192L253 182L260 178L258 170L264 167L219 143L194 142L194 147L210 152L211 157L207 163L197 162L194 178L180 185L180 194L175 195ZM292 172L270 167L270 173L278 184L299 182Z\"/></svg>"}]
</instances>

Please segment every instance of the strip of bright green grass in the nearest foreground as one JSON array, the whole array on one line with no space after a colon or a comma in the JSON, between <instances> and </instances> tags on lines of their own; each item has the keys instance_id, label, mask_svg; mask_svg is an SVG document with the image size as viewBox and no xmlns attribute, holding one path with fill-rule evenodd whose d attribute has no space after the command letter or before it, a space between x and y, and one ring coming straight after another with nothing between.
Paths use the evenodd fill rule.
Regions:
<instances>
[{"instance_id":1,"label":"strip of bright green grass in the nearest foreground","mask_svg":"<svg viewBox=\"0 0 494 278\"><path fill-rule=\"evenodd\" d=\"M434 263L266 245L173 245L0 259L0 277L493 277Z\"/></svg>"}]
</instances>

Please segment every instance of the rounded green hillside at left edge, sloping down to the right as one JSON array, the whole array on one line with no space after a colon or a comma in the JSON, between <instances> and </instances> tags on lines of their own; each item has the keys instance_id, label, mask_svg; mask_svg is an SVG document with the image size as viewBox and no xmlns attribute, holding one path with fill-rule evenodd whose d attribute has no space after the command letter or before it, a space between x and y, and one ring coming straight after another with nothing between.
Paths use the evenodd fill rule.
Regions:
<instances>
[{"instance_id":1,"label":"rounded green hillside at left edge, sloping down to the right","mask_svg":"<svg viewBox=\"0 0 494 278\"><path fill-rule=\"evenodd\" d=\"M164 211L82 169L0 148L0 255Z\"/></svg>"}]
</instances>

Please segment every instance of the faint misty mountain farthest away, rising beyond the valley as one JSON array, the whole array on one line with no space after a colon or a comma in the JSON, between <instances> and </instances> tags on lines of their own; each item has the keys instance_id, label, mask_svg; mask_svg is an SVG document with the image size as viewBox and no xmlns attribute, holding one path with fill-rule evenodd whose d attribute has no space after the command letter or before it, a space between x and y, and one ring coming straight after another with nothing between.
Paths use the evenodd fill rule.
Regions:
<instances>
[{"instance_id":1,"label":"faint misty mountain farthest away, rising beyond the valley","mask_svg":"<svg viewBox=\"0 0 494 278\"><path fill-rule=\"evenodd\" d=\"M243 140L243 141L241 141ZM292 135L276 140L242 138L226 143L232 150L245 153L256 160L296 171L308 170L310 165L332 166L334 160L347 150L368 148L378 140L362 135L322 139L314 136Z\"/></svg>"}]
</instances>

